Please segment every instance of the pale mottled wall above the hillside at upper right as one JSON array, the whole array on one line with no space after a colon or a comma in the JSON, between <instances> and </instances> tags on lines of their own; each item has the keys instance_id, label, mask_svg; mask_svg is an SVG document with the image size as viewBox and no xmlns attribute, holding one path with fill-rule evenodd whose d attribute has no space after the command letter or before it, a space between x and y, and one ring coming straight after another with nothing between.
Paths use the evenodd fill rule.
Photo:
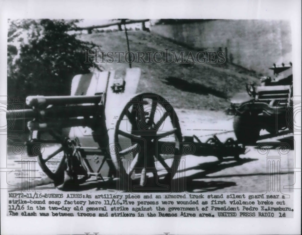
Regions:
<instances>
[{"instance_id":1,"label":"pale mottled wall above the hillside at upper right","mask_svg":"<svg viewBox=\"0 0 302 235\"><path fill-rule=\"evenodd\" d=\"M194 48L228 48L233 63L269 74L273 63L291 61L291 27L288 21L212 20L161 24L151 32Z\"/></svg>"}]
</instances>

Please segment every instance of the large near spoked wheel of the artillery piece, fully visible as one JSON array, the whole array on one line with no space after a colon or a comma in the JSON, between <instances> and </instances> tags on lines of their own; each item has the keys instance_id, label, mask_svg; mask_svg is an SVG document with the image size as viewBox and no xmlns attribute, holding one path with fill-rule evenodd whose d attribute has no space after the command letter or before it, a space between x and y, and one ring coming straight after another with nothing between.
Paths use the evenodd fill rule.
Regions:
<instances>
[{"instance_id":1,"label":"large near spoked wheel of the artillery piece, fully visible","mask_svg":"<svg viewBox=\"0 0 302 235\"><path fill-rule=\"evenodd\" d=\"M114 141L111 152L117 156L123 190L172 189L182 133L168 101L152 93L132 98L117 121Z\"/></svg>"}]
</instances>

